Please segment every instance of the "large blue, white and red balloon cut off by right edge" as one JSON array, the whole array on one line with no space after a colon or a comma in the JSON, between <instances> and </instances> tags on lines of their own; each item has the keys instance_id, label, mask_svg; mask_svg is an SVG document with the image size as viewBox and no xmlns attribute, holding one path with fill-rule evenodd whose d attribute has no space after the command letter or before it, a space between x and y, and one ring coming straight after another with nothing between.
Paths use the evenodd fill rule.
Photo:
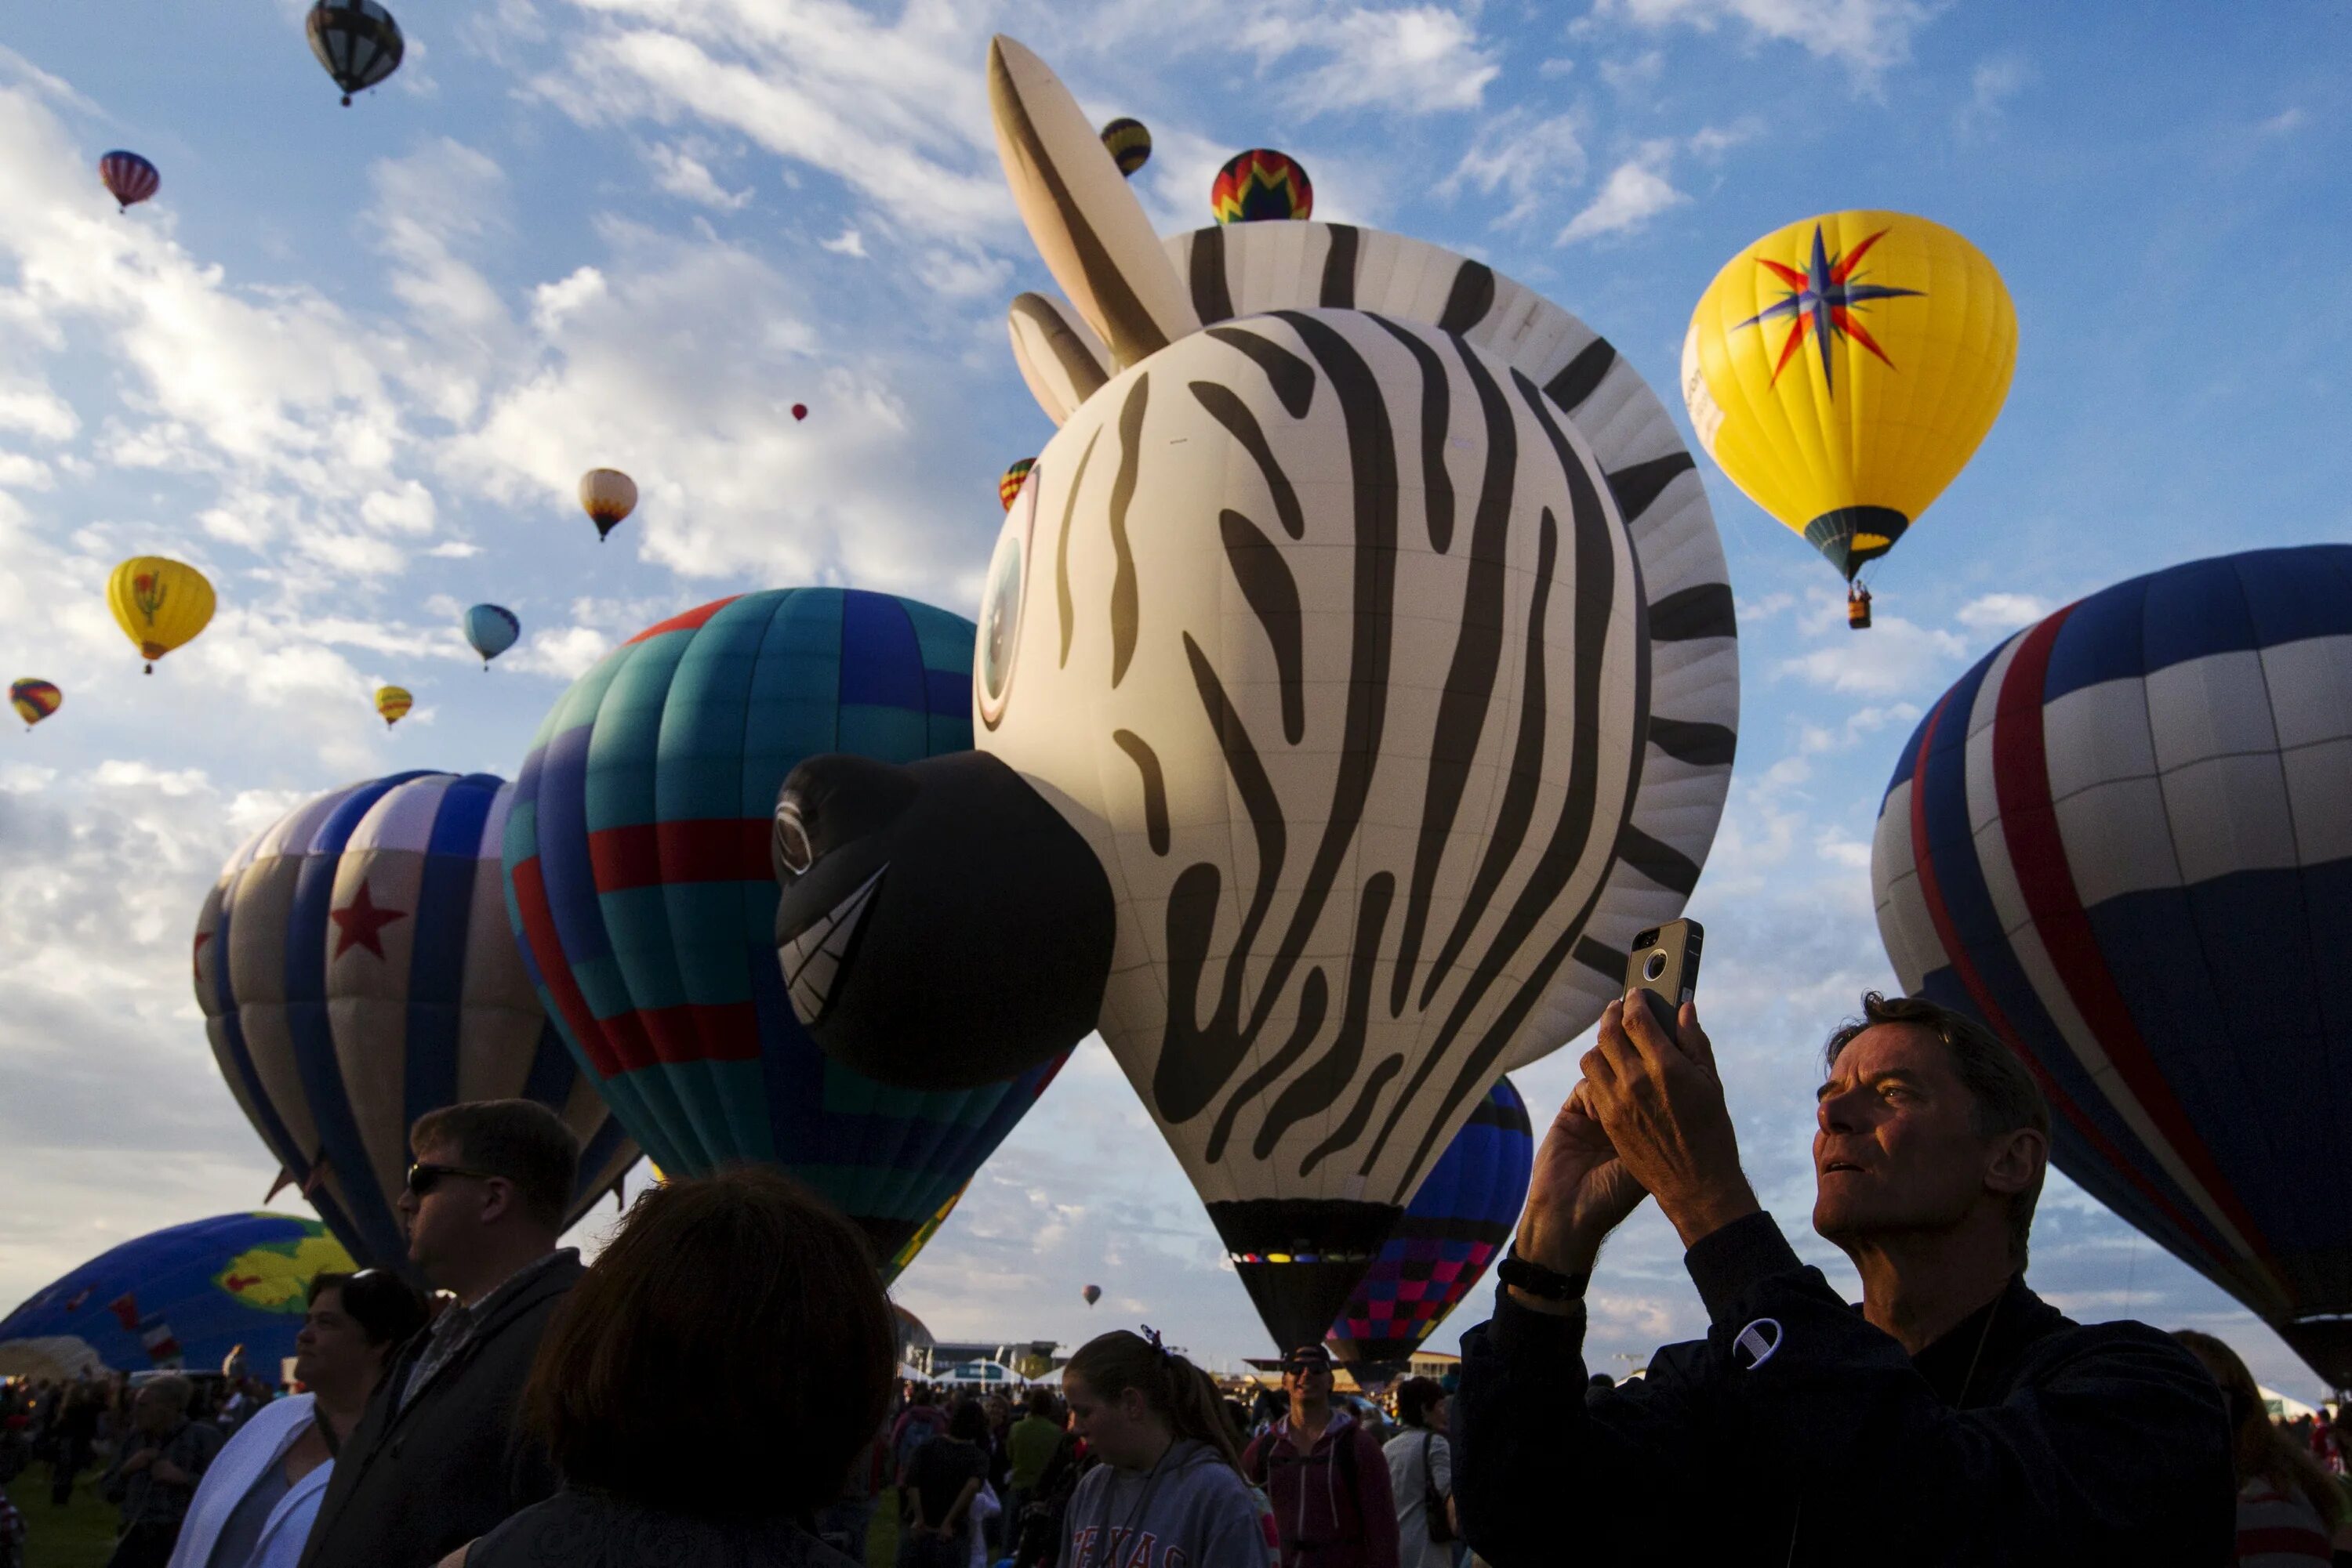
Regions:
<instances>
[{"instance_id":1,"label":"large blue, white and red balloon cut off by right edge","mask_svg":"<svg viewBox=\"0 0 2352 1568\"><path fill-rule=\"evenodd\" d=\"M1903 985L2053 1159L2352 1385L2352 545L2133 578L1926 715L1872 846Z\"/></svg>"}]
</instances>

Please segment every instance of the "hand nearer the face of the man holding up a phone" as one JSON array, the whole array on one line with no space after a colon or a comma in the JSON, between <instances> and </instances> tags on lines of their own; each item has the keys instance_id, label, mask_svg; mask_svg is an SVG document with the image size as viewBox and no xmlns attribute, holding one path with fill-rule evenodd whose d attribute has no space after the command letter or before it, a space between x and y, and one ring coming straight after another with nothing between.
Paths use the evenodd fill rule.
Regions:
<instances>
[{"instance_id":1,"label":"hand nearer the face of the man holding up a phone","mask_svg":"<svg viewBox=\"0 0 2352 1568\"><path fill-rule=\"evenodd\" d=\"M1675 1032L1646 1001L1611 1001L1585 1051L1581 1093L1630 1180L1658 1197L1682 1246L1759 1208L1740 1171L1740 1145L1715 1074L1715 1046L1689 1001Z\"/></svg>"}]
</instances>

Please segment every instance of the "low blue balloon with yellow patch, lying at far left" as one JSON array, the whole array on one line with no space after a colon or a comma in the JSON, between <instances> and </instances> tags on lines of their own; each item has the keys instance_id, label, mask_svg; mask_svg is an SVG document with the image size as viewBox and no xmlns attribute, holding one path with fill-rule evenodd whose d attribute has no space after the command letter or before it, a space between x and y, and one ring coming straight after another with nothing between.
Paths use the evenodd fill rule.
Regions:
<instances>
[{"instance_id":1,"label":"low blue balloon with yellow patch, lying at far left","mask_svg":"<svg viewBox=\"0 0 2352 1568\"><path fill-rule=\"evenodd\" d=\"M242 1345L254 1375L275 1380L310 1279L350 1267L318 1220L223 1213L172 1225L68 1269L0 1319L0 1378L202 1371Z\"/></svg>"}]
</instances>

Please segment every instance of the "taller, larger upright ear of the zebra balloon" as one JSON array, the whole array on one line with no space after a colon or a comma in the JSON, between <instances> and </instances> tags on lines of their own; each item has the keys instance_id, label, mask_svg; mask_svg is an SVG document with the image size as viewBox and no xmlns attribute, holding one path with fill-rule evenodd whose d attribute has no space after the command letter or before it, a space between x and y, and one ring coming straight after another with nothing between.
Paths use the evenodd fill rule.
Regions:
<instances>
[{"instance_id":1,"label":"taller, larger upright ear of the zebra balloon","mask_svg":"<svg viewBox=\"0 0 2352 1568\"><path fill-rule=\"evenodd\" d=\"M1200 331L1200 315L1103 136L1042 59L988 45L997 158L1047 270L1124 369Z\"/></svg>"}]
</instances>

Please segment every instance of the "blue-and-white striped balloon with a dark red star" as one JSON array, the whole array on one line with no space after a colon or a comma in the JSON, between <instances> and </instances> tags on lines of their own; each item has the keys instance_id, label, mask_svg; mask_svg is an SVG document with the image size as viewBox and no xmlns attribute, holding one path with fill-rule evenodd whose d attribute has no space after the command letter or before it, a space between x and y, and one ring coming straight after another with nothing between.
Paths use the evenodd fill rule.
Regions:
<instances>
[{"instance_id":1,"label":"blue-and-white striped balloon with a dark red star","mask_svg":"<svg viewBox=\"0 0 2352 1568\"><path fill-rule=\"evenodd\" d=\"M254 835L205 898L195 999L247 1121L353 1251L405 1267L409 1124L529 1098L581 1140L569 1220L637 1159L532 992L501 907L513 785L393 773Z\"/></svg>"}]
</instances>

